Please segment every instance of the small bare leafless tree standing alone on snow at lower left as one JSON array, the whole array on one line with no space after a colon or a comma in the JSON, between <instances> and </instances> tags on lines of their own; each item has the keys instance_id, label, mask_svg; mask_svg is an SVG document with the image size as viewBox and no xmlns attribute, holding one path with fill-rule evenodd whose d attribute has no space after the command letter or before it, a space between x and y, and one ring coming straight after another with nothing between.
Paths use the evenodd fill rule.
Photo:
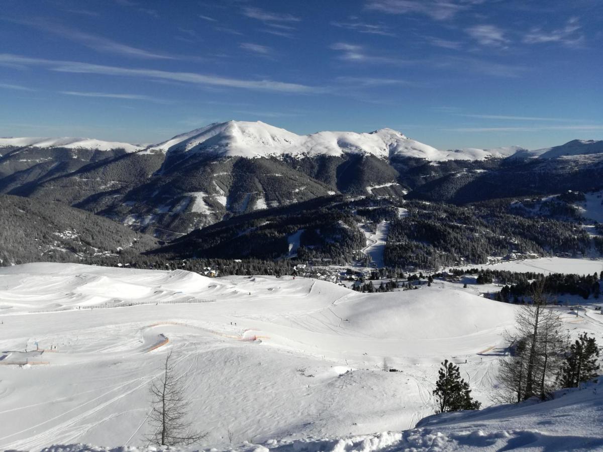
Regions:
<instances>
[{"instance_id":1,"label":"small bare leafless tree standing alone on snow at lower left","mask_svg":"<svg viewBox=\"0 0 603 452\"><path fill-rule=\"evenodd\" d=\"M182 376L174 374L172 353L165 358L162 376L151 382L153 409L149 415L153 433L148 441L160 446L191 445L203 439L207 433L192 430L187 421L189 402L185 398Z\"/></svg>"}]
</instances>

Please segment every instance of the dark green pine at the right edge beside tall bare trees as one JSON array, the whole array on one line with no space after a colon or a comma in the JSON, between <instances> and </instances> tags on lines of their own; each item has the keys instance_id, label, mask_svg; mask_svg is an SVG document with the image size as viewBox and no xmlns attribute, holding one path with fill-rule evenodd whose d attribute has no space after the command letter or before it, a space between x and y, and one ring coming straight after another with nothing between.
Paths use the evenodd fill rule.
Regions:
<instances>
[{"instance_id":1,"label":"dark green pine at the right edge beside tall bare trees","mask_svg":"<svg viewBox=\"0 0 603 452\"><path fill-rule=\"evenodd\" d=\"M566 354L565 363L561 368L561 385L564 388L577 388L580 383L595 378L600 367L597 363L598 357L599 347L595 337L581 334Z\"/></svg>"}]
</instances>

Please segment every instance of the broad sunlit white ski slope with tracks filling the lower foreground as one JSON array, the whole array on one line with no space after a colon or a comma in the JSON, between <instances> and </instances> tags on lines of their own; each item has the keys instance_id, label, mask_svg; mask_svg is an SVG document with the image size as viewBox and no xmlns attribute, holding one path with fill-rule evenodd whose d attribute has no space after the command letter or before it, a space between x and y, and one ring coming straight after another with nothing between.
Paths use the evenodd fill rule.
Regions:
<instances>
[{"instance_id":1,"label":"broad sunlit white ski slope with tracks filling the lower foreground","mask_svg":"<svg viewBox=\"0 0 603 452\"><path fill-rule=\"evenodd\" d=\"M90 309L143 301L152 304ZM194 419L208 432L200 447L362 450L333 438L413 428L432 413L444 358L490 404L514 310L446 283L362 294L306 278L2 268L0 449L145 447L149 381L172 351ZM593 312L564 318L576 333L601 336ZM40 355L36 342L56 350ZM24 360L47 364L7 364ZM407 433L367 441L402 444Z\"/></svg>"}]
</instances>

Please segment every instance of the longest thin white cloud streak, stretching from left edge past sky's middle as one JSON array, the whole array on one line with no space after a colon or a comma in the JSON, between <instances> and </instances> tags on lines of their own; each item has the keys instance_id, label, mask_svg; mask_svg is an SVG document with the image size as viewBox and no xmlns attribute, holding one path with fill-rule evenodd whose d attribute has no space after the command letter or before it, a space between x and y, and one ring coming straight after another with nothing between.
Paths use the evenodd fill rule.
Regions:
<instances>
[{"instance_id":1,"label":"longest thin white cloud streak, stretching from left edge past sky's middle","mask_svg":"<svg viewBox=\"0 0 603 452\"><path fill-rule=\"evenodd\" d=\"M204 86L220 86L301 94L324 91L324 89L321 87L274 80L243 80L237 78L218 77L216 75L195 74L194 72L170 72L159 71L157 69L130 69L127 67L80 63L78 61L57 61L46 60L44 58L22 57L21 55L0 54L0 64L4 63L17 64L21 66L45 66L50 71L69 72L72 74L99 74L146 78L149 80L173 80Z\"/></svg>"}]
</instances>

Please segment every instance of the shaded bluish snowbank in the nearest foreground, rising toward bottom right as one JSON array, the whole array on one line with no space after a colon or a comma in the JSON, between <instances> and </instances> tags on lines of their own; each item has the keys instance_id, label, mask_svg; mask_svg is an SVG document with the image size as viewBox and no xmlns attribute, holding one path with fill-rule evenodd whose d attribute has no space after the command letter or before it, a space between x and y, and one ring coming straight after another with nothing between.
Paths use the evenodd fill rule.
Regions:
<instances>
[{"instance_id":1,"label":"shaded bluish snowbank in the nearest foreground, rising toward bottom right","mask_svg":"<svg viewBox=\"0 0 603 452\"><path fill-rule=\"evenodd\" d=\"M400 432L343 437L308 437L273 440L267 444L244 443L228 448L236 452L497 452L599 451L603 434L599 416L603 409L603 378L598 383L559 391L555 400L528 401L493 406L478 412L429 416L416 428ZM154 452L155 448L128 448L130 452ZM197 447L173 448L193 451ZM84 444L55 445L43 452L114 452L109 447Z\"/></svg>"}]
</instances>

